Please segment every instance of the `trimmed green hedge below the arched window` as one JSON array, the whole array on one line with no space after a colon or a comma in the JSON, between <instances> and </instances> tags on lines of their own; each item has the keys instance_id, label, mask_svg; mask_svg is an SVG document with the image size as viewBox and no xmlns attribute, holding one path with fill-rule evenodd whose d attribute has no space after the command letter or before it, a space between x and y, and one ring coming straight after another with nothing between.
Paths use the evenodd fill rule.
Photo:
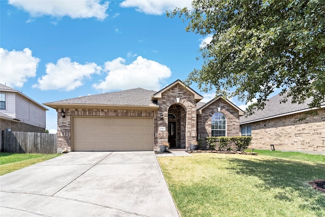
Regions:
<instances>
[{"instance_id":1,"label":"trimmed green hedge below the arched window","mask_svg":"<svg viewBox=\"0 0 325 217\"><path fill-rule=\"evenodd\" d=\"M243 150L247 149L251 142L250 136L220 136L220 137L207 137L207 144L210 149L214 150Z\"/></svg>"}]
</instances>

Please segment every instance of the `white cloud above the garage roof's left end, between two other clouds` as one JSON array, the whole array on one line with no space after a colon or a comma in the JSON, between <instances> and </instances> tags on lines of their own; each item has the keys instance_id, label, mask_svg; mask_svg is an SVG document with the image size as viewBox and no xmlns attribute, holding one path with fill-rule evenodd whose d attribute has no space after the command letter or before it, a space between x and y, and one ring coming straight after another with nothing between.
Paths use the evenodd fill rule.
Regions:
<instances>
[{"instance_id":1,"label":"white cloud above the garage roof's left end, between two other clouds","mask_svg":"<svg viewBox=\"0 0 325 217\"><path fill-rule=\"evenodd\" d=\"M95 63L81 65L77 62L71 62L69 57L60 58L56 64L46 64L46 75L38 79L38 87L42 90L64 89L73 90L83 85L85 78L90 78L91 74L99 74L102 68Z\"/></svg>"}]
</instances>

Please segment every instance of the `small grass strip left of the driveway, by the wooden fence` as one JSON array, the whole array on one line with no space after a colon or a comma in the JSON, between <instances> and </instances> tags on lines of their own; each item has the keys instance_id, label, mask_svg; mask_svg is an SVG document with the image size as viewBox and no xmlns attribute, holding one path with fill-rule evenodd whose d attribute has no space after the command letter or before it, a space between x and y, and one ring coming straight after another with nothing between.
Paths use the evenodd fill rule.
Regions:
<instances>
[{"instance_id":1,"label":"small grass strip left of the driveway, by the wooden fence","mask_svg":"<svg viewBox=\"0 0 325 217\"><path fill-rule=\"evenodd\" d=\"M0 175L28 167L42 161L60 156L61 154L35 154L35 153L0 153Z\"/></svg>"}]
</instances>

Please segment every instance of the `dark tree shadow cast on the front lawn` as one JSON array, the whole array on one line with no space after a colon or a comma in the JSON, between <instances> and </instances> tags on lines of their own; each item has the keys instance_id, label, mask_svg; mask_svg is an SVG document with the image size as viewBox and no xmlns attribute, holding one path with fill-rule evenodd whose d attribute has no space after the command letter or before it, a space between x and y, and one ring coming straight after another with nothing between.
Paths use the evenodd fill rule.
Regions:
<instances>
[{"instance_id":1,"label":"dark tree shadow cast on the front lawn","mask_svg":"<svg viewBox=\"0 0 325 217\"><path fill-rule=\"evenodd\" d=\"M312 189L308 181L325 179L325 164L308 164L282 159L229 159L229 161L237 165L228 168L229 170L237 174L255 176L264 181L264 184L256 185L256 188L265 191L272 188L283 189L283 192L275 195L275 199L291 201L294 200L293 194L295 194L305 201L300 205L302 209L311 209L316 213L321 212L319 209L324 211L325 194Z\"/></svg>"}]
</instances>

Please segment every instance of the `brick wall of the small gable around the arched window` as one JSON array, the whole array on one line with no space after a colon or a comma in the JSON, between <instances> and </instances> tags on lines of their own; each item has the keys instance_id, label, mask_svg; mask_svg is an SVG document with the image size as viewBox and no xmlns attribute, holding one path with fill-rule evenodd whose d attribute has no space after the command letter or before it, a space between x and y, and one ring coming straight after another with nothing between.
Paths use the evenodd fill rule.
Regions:
<instances>
[{"instance_id":1,"label":"brick wall of the small gable around the arched window","mask_svg":"<svg viewBox=\"0 0 325 217\"><path fill-rule=\"evenodd\" d=\"M198 137L204 145L206 145L205 138L211 136L211 117L218 112L218 108L226 118L226 136L240 136L239 111L219 98L204 108L202 114L198 114Z\"/></svg>"}]
</instances>

